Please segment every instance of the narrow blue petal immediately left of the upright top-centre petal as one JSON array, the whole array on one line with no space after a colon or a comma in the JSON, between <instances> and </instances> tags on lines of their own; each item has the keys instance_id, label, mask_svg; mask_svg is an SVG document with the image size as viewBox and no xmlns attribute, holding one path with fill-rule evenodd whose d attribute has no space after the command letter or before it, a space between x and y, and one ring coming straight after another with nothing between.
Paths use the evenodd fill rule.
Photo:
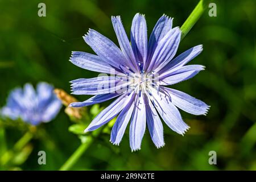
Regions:
<instances>
[{"instance_id":1,"label":"narrow blue petal immediately left of the upright top-centre petal","mask_svg":"<svg viewBox=\"0 0 256 182\"><path fill-rule=\"evenodd\" d=\"M120 16L112 16L112 24L123 55L125 55L127 60L130 60L130 62L133 63L133 71L138 71L138 65L134 57L133 49L131 48L131 44L125 32L125 28L123 28Z\"/></svg>"}]
</instances>

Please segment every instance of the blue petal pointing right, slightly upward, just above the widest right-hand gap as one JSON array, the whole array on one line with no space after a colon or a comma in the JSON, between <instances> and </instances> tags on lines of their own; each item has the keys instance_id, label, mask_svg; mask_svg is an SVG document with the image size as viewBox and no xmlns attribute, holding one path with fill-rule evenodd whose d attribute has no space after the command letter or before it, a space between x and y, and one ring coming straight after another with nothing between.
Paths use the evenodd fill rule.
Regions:
<instances>
[{"instance_id":1,"label":"blue petal pointing right, slightly upward, just above the widest right-hand gap","mask_svg":"<svg viewBox=\"0 0 256 182\"><path fill-rule=\"evenodd\" d=\"M192 78L202 70L204 70L204 66L202 65L186 65L170 73L170 75L165 75L164 77L160 75L159 84L160 85L177 84L178 82L185 81L185 80L188 80L189 78Z\"/></svg>"}]
</instances>

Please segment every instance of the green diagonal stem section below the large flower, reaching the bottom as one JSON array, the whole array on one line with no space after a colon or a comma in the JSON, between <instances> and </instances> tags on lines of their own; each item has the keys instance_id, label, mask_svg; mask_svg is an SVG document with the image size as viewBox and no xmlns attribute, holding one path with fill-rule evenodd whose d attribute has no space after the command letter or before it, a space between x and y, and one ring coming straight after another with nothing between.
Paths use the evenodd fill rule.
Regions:
<instances>
[{"instance_id":1,"label":"green diagonal stem section below the large flower, reaching the bottom","mask_svg":"<svg viewBox=\"0 0 256 182\"><path fill-rule=\"evenodd\" d=\"M82 154L86 151L86 149L92 144L93 138L92 136L88 136L86 140L80 144L77 150L70 156L70 158L60 167L60 171L67 171L70 169L77 160L81 157Z\"/></svg>"}]
</instances>

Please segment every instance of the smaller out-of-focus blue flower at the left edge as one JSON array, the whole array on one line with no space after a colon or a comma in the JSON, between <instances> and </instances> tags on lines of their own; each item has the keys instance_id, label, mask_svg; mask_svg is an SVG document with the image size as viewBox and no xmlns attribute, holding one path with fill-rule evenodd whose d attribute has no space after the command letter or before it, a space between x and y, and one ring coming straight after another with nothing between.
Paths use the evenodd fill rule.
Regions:
<instances>
[{"instance_id":1,"label":"smaller out-of-focus blue flower at the left edge","mask_svg":"<svg viewBox=\"0 0 256 182\"><path fill-rule=\"evenodd\" d=\"M22 119L32 125L49 122L61 108L61 101L53 93L53 86L39 82L36 89L31 84L16 88L7 98L7 105L0 111L2 117Z\"/></svg>"}]
</instances>

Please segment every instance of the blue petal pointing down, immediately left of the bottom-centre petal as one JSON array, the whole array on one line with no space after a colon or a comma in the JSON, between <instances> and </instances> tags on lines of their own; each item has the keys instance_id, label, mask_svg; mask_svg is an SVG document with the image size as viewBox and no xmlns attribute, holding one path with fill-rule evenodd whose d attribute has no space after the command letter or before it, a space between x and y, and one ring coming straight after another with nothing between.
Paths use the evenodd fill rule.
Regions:
<instances>
[{"instance_id":1,"label":"blue petal pointing down, immediately left of the bottom-centre petal","mask_svg":"<svg viewBox=\"0 0 256 182\"><path fill-rule=\"evenodd\" d=\"M114 123L110 137L110 142L113 144L119 145L123 138L123 134L125 133L125 129L130 121L131 114L133 113L134 109L134 94L132 97L133 98L127 103L125 108L118 115L117 121Z\"/></svg>"}]
</instances>

